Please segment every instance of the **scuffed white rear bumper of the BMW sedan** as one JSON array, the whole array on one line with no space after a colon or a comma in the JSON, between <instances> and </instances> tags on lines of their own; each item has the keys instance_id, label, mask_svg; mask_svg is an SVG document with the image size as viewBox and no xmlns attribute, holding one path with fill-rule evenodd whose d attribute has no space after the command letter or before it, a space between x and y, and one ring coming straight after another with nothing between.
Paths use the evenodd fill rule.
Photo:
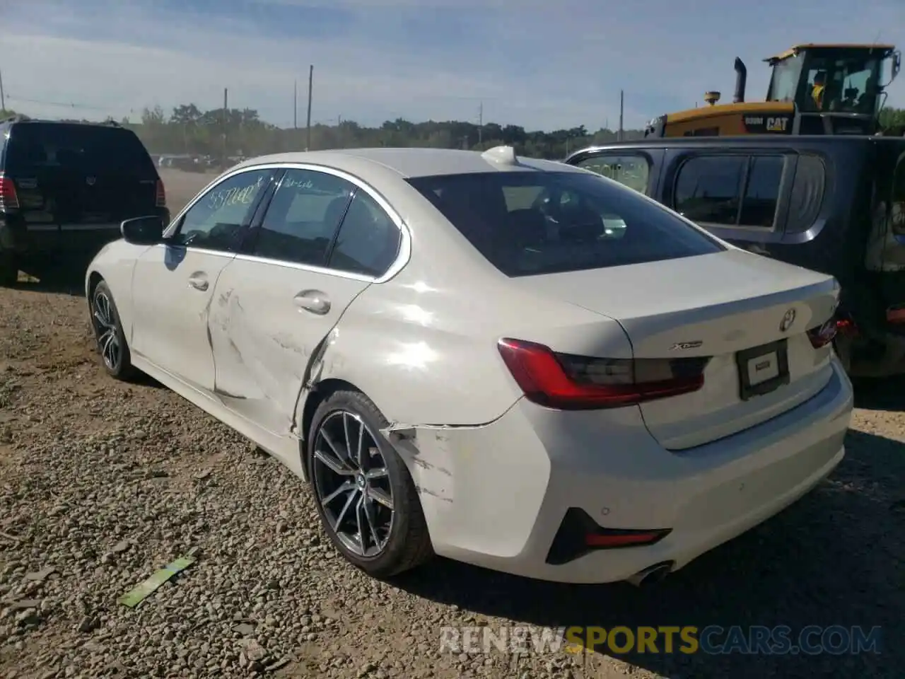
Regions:
<instances>
[{"instance_id":1,"label":"scuffed white rear bumper of the BMW sedan","mask_svg":"<svg viewBox=\"0 0 905 679\"><path fill-rule=\"evenodd\" d=\"M594 583L662 561L681 568L765 521L843 459L852 387L838 360L824 389L736 435L671 453L637 408L553 412L520 401L471 429L419 429L409 468L437 553L521 576ZM562 565L548 551L570 507L605 528L672 529L646 547Z\"/></svg>"}]
</instances>

